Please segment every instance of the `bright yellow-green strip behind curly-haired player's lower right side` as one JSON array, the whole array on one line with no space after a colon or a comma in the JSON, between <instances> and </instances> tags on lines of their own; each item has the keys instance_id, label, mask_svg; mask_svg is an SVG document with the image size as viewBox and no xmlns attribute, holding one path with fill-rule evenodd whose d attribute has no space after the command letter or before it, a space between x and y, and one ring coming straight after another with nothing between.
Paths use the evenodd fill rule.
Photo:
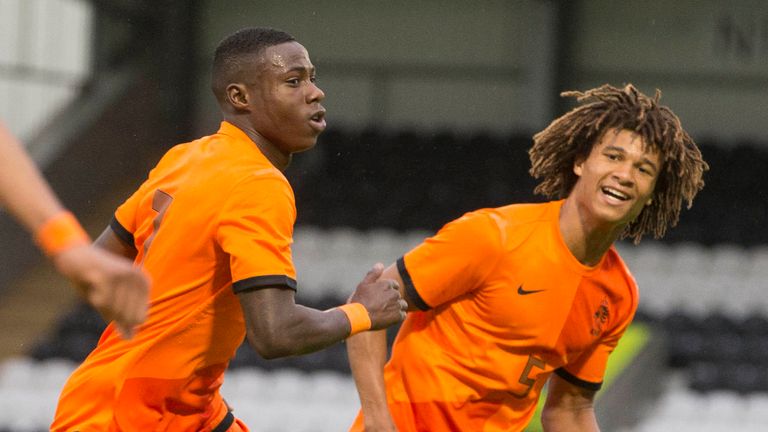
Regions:
<instances>
[{"instance_id":1,"label":"bright yellow-green strip behind curly-haired player's lower right side","mask_svg":"<svg viewBox=\"0 0 768 432\"><path fill-rule=\"evenodd\" d=\"M611 354L608 359L608 365L605 368L605 377L603 379L602 391L597 392L597 399L600 399L600 395L611 386L614 378L616 378L626 368L632 359L645 347L650 337L650 330L643 324L632 324L627 328L627 331L619 341L619 345ZM534 414L531 423L525 429L525 432L542 432L541 429L541 408L544 406L544 401L547 400L547 388L545 387L541 395L539 396L539 404L536 406L536 414Z\"/></svg>"}]
</instances>

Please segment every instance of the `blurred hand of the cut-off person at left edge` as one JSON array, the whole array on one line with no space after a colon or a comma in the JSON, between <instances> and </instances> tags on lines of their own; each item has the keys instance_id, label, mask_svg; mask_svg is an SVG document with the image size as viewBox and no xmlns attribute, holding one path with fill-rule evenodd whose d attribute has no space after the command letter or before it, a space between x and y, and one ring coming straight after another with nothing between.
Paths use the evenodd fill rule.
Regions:
<instances>
[{"instance_id":1,"label":"blurred hand of the cut-off person at left edge","mask_svg":"<svg viewBox=\"0 0 768 432\"><path fill-rule=\"evenodd\" d=\"M69 278L107 321L115 321L125 338L147 318L149 278L125 258L95 246L79 246L53 257L56 268Z\"/></svg>"}]
</instances>

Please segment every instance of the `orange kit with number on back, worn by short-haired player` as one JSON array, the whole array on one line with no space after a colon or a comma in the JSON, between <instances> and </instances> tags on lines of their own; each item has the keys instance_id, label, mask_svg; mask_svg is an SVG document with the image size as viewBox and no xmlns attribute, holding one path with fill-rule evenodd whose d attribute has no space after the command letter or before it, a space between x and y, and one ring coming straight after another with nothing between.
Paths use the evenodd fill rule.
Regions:
<instances>
[{"instance_id":1,"label":"orange kit with number on back, worn by short-haired player","mask_svg":"<svg viewBox=\"0 0 768 432\"><path fill-rule=\"evenodd\" d=\"M210 431L245 337L236 293L296 289L296 218L283 174L237 127L163 156L111 227L152 277L147 321L130 340L110 324L72 374L56 431Z\"/></svg>"}]
</instances>

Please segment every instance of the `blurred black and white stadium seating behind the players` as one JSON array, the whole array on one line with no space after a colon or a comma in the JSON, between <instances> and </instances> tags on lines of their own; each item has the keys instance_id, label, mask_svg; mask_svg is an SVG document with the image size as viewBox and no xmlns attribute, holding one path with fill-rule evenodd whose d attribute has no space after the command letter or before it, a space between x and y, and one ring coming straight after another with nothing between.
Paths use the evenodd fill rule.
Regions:
<instances>
[{"instance_id":1,"label":"blurred black and white stadium seating behind the players","mask_svg":"<svg viewBox=\"0 0 768 432\"><path fill-rule=\"evenodd\" d=\"M294 248L299 301L334 306L373 262L391 262L459 214L537 200L530 194L534 183L527 175L525 136L329 131L289 170L300 215ZM768 186L768 178L757 175L768 165L768 154L709 144L703 151L713 155L708 159L717 175L707 177L707 188L683 213L680 227L663 242L619 245L640 285L638 320L664 336L663 362L669 368L654 371L664 392L634 429L638 432L729 430L733 425L757 431L768 424L768 299L760 295L768 276L768 237L760 222L767 201L753 197ZM748 182L740 180L744 173ZM717 194L717 205L711 194ZM745 202L754 218L733 211ZM11 397L32 398L33 392L44 394L48 405L35 413L0 409L13 416L0 417L0 426L13 425L11 430L19 432L44 428L44 422L32 419L50 418L55 384L84 358L103 326L80 305L32 347L35 362L6 363L0 408L10 406ZM343 345L271 361L243 346L230 375L225 396L236 407L247 407L238 415L263 425L261 430L341 430L357 407ZM45 388L19 385L43 386L43 381ZM290 406L280 400L296 398L307 401L307 414L287 424L275 413ZM729 407L737 412L721 414L725 419L704 415ZM324 415L331 410L339 415ZM263 412L271 416L260 416ZM269 423L275 417L280 423Z\"/></svg>"}]
</instances>

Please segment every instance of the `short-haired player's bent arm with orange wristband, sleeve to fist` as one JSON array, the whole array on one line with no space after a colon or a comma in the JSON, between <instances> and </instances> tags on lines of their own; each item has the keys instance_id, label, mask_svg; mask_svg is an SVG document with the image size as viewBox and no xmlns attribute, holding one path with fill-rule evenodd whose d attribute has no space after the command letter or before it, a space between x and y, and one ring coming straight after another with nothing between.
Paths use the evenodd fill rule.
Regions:
<instances>
[{"instance_id":1,"label":"short-haired player's bent arm with orange wristband, sleeve to fist","mask_svg":"<svg viewBox=\"0 0 768 432\"><path fill-rule=\"evenodd\" d=\"M377 264L365 276L348 301L370 324L359 326L359 316L350 319L341 308L326 311L295 303L288 288L262 288L239 294L250 345L264 358L306 354L347 338L361 329L383 329L405 318L405 302L391 280L379 279ZM353 322L354 320L354 322Z\"/></svg>"}]
</instances>

